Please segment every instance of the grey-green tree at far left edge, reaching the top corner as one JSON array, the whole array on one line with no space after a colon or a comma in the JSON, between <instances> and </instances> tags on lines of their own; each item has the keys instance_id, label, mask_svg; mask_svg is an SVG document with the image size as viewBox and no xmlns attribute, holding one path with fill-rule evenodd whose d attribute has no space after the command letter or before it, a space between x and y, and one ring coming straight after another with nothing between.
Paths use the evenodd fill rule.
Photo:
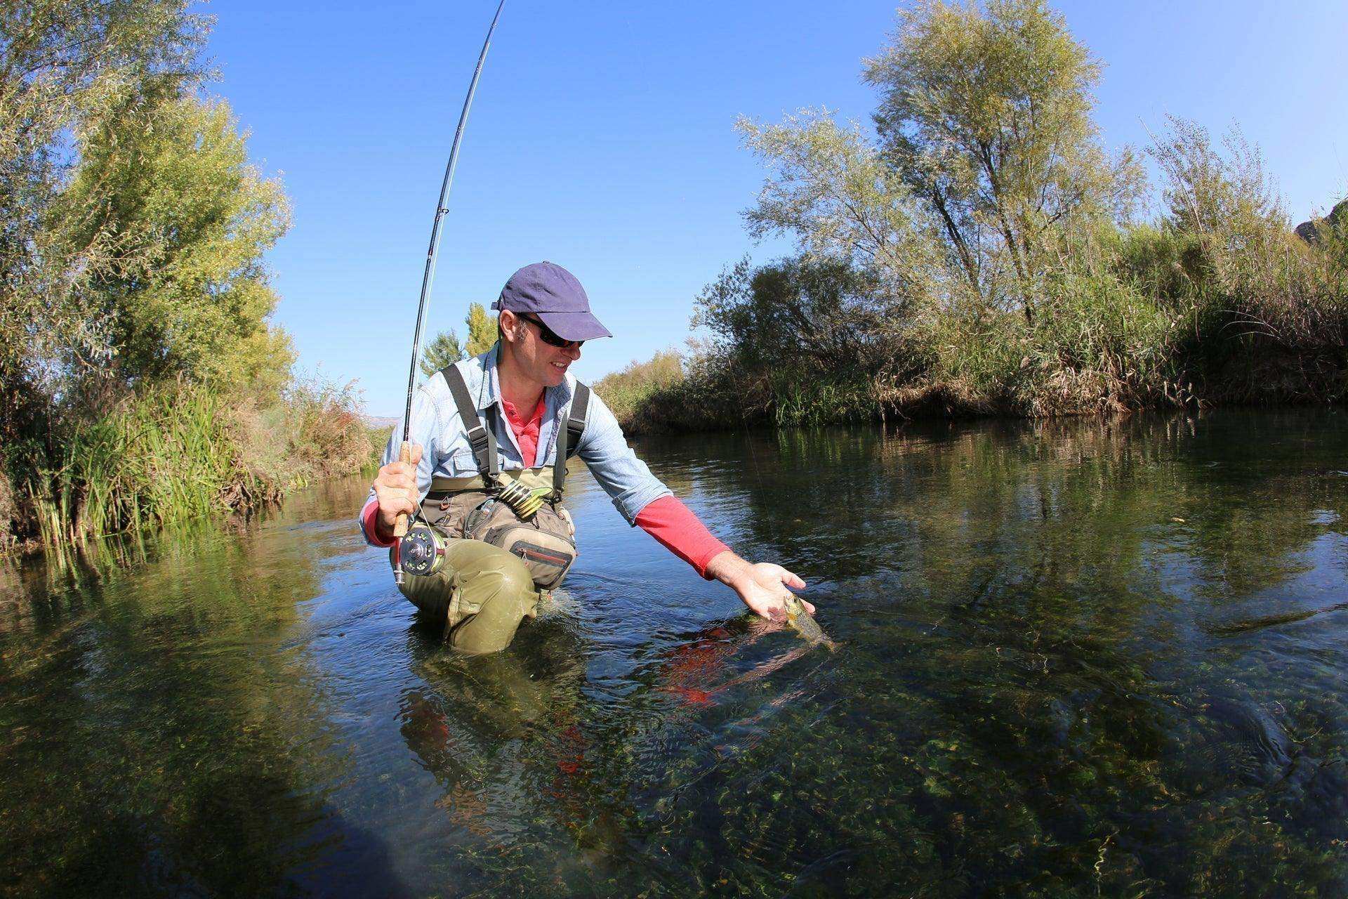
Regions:
<instances>
[{"instance_id":1,"label":"grey-green tree at far left edge, reaching the top corner","mask_svg":"<svg viewBox=\"0 0 1348 899\"><path fill-rule=\"evenodd\" d=\"M195 85L208 19L186 0L0 4L0 442L44 406L59 357L106 359L108 334L73 306L73 268L42 247L78 154L73 142L137 98Z\"/></svg>"}]
</instances>

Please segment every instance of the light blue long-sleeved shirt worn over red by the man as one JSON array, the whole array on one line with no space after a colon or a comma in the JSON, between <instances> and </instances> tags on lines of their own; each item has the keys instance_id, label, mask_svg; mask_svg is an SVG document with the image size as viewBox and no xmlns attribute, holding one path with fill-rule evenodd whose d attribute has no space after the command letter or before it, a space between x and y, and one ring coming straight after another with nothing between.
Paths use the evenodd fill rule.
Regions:
<instances>
[{"instance_id":1,"label":"light blue long-sleeved shirt worn over red by the man","mask_svg":"<svg viewBox=\"0 0 1348 899\"><path fill-rule=\"evenodd\" d=\"M496 407L499 422L506 422L506 407L501 404L500 379L497 377L499 345L481 356L456 363L464 373L469 396L474 398L477 414L487 425L485 410ZM557 458L557 431L572 408L572 395L576 391L576 377L568 372L557 387L543 390L543 419L538 427L538 452L535 468L551 468ZM532 410L524 410L532 411ZM515 439L515 431L497 429L496 450L503 469L524 468L524 458ZM419 499L425 500L433 477L472 477L477 474L477 461L468 443L468 427L458 415L458 407L449 392L449 384L441 372L417 388L412 396L411 431L412 443L421 443L422 458L417 466L417 488ZM398 423L384 447L384 465L398 458L402 452L403 425ZM652 500L670 496L670 489L651 474L646 462L627 445L623 429L604 400L590 391L589 408L585 415L585 431L577 447L577 456L589 466L599 485L604 488L613 505L623 514L628 524L636 523L636 516ZM375 489L369 491L371 499ZM368 505L368 501L367 501ZM369 535L365 535L369 540Z\"/></svg>"}]
</instances>

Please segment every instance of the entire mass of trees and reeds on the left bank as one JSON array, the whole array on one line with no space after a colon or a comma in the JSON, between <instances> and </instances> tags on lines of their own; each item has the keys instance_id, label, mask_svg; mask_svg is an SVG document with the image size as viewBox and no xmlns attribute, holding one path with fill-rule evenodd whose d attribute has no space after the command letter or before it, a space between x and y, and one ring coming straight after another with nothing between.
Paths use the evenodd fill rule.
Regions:
<instances>
[{"instance_id":1,"label":"entire mass of trees and reeds on the left bank","mask_svg":"<svg viewBox=\"0 0 1348 899\"><path fill-rule=\"evenodd\" d=\"M35 499L0 503L0 543L371 458L349 387L291 383L264 264L288 204L197 94L208 24L181 0L0 4L0 461Z\"/></svg>"}]
</instances>

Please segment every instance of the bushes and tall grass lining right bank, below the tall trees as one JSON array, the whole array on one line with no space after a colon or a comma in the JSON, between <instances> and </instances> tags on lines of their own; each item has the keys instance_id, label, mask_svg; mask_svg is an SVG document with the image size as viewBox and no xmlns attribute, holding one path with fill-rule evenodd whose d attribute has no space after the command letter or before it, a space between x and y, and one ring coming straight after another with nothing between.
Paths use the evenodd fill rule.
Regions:
<instances>
[{"instance_id":1,"label":"bushes and tall grass lining right bank, below the tall trees","mask_svg":"<svg viewBox=\"0 0 1348 899\"><path fill-rule=\"evenodd\" d=\"M1348 228L1309 245L1283 225L1100 229L1065 249L1033 318L937 303L876 314L875 286L844 266L744 263L698 299L697 352L596 390L634 434L1343 403Z\"/></svg>"}]
</instances>

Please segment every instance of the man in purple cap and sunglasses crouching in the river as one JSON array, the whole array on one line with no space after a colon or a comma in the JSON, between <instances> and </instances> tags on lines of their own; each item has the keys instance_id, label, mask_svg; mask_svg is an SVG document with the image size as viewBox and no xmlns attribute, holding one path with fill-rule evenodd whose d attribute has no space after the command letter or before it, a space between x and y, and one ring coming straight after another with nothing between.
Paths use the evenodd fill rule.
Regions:
<instances>
[{"instance_id":1,"label":"man in purple cap and sunglasses crouching in the river","mask_svg":"<svg viewBox=\"0 0 1348 899\"><path fill-rule=\"evenodd\" d=\"M555 464L558 442L566 441L569 426L578 425L572 416L573 400L581 406L578 398L586 396L584 429L573 446L619 512L702 577L729 586L758 615L780 617L787 588L803 589L805 582L779 565L747 562L712 536L636 458L604 402L568 373L581 356L581 344L612 337L590 314L589 298L576 276L549 261L526 266L506 282L492 309L500 311L500 340L487 353L456 363L422 384L411 412L411 462L398 461L402 431L395 429L360 515L371 545L394 546L396 518L418 509L426 515L423 497L435 497L434 505L445 516L435 523L445 538L443 565L433 576L407 576L399 586L403 594L443 623L446 639L457 650L495 652L510 644L520 621L535 613L538 571L526 565L527 554L493 545L491 531L484 539L464 534L481 534L473 531L474 514L501 511L495 500L512 478L549 495L554 504L561 499L565 458L558 489L534 485L543 483L542 473ZM483 438L483 429L489 438ZM470 434L477 435L476 446ZM487 454L495 453L491 464L497 470L487 470L484 443L489 443ZM458 501L462 497L468 503ZM473 507L479 500L481 504ZM569 524L563 511L554 512ZM805 605L813 615L814 607Z\"/></svg>"}]
</instances>

